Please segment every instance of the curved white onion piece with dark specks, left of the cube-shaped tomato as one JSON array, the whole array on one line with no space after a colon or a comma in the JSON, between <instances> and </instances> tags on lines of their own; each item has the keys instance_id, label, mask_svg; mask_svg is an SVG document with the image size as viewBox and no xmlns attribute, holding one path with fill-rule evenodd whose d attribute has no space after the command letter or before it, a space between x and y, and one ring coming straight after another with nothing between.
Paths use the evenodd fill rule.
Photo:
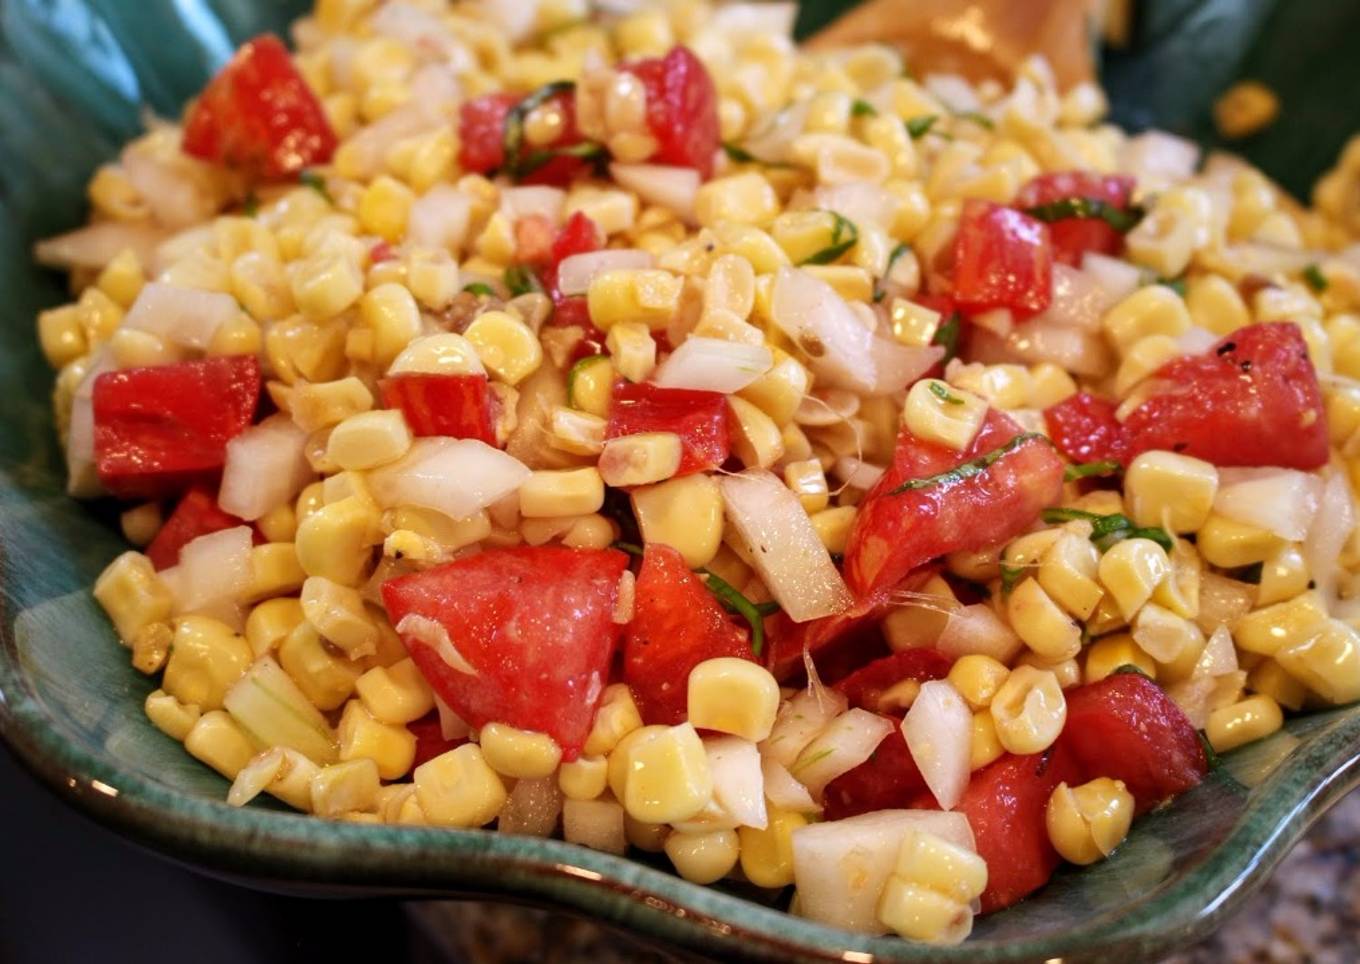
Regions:
<instances>
[{"instance_id":1,"label":"curved white onion piece with dark specks, left of the cube-shaped tomato","mask_svg":"<svg viewBox=\"0 0 1360 964\"><path fill-rule=\"evenodd\" d=\"M774 322L808 356L817 383L862 394L900 392L944 354L876 334L835 290L805 271L781 268L771 299Z\"/></svg>"}]
</instances>

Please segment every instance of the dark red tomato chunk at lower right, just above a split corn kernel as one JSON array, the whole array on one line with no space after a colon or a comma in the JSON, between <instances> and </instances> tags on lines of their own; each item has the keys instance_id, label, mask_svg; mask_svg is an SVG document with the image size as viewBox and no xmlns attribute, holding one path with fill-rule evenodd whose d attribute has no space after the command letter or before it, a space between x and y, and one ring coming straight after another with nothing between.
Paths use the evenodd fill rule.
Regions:
<instances>
[{"instance_id":1,"label":"dark red tomato chunk at lower right, just above a split corn kernel","mask_svg":"<svg viewBox=\"0 0 1360 964\"><path fill-rule=\"evenodd\" d=\"M1058 742L1084 779L1123 780L1138 812L1200 783L1209 764L1200 734L1156 683L1115 673L1069 689L1068 722Z\"/></svg>"}]
</instances>

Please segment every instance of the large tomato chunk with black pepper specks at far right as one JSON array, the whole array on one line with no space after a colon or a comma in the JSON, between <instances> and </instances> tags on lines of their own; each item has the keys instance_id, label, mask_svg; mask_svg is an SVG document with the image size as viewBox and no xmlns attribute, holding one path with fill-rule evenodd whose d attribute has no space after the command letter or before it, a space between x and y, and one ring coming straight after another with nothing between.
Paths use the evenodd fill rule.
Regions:
<instances>
[{"instance_id":1,"label":"large tomato chunk with black pepper specks at far right","mask_svg":"<svg viewBox=\"0 0 1360 964\"><path fill-rule=\"evenodd\" d=\"M1153 377L1164 386L1123 421L1127 457L1168 449L1214 465L1327 462L1327 413L1308 345L1291 322L1247 325Z\"/></svg>"}]
</instances>

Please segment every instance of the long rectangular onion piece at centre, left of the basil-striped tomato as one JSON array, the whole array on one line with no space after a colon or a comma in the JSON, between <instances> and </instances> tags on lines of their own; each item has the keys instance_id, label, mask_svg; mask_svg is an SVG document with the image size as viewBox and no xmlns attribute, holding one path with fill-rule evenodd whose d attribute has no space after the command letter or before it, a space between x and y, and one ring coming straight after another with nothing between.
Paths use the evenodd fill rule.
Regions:
<instances>
[{"instance_id":1,"label":"long rectangular onion piece at centre, left of the basil-striped tomato","mask_svg":"<svg viewBox=\"0 0 1360 964\"><path fill-rule=\"evenodd\" d=\"M798 496L775 475L747 469L724 476L718 487L728 521L745 541L756 574L789 619L806 623L854 604Z\"/></svg>"}]
</instances>

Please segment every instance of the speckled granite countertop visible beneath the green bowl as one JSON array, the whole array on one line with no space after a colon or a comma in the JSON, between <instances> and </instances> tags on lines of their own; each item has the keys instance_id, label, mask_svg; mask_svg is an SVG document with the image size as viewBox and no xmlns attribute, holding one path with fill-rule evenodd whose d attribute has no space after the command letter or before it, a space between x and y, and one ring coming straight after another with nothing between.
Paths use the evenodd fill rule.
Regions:
<instances>
[{"instance_id":1,"label":"speckled granite countertop visible beneath the green bowl","mask_svg":"<svg viewBox=\"0 0 1360 964\"><path fill-rule=\"evenodd\" d=\"M457 964L673 964L681 960L589 920L486 903L409 904ZM1323 817L1270 881L1206 941L1164 964L1360 961L1360 791Z\"/></svg>"}]
</instances>

